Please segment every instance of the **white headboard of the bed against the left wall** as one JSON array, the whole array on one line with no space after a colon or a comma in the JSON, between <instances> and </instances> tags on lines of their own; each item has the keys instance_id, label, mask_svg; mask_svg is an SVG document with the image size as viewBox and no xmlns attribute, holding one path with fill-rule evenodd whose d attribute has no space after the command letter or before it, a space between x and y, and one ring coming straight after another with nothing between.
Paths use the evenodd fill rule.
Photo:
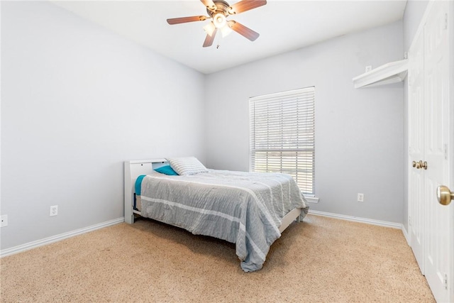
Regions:
<instances>
[{"instance_id":1,"label":"white headboard of the bed against the left wall","mask_svg":"<svg viewBox=\"0 0 454 303\"><path fill-rule=\"evenodd\" d=\"M153 170L158 167L167 165L168 162L164 158L153 160L131 160L125 161L125 222L128 224L134 223L134 192L135 180L140 175L150 175Z\"/></svg>"}]
</instances>

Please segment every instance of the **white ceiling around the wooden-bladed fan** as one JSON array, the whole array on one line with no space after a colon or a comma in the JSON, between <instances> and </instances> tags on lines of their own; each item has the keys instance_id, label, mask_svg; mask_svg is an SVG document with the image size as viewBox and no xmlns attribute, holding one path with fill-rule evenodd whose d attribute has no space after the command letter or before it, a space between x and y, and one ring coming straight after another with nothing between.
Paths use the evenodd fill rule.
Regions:
<instances>
[{"instance_id":1,"label":"white ceiling around the wooden-bladed fan","mask_svg":"<svg viewBox=\"0 0 454 303\"><path fill-rule=\"evenodd\" d=\"M211 47L202 48L208 20L173 26L166 22L207 16L198 0L52 2L205 74L401 20L406 6L406 0L268 0L265 6L228 17L260 33L257 40L235 32L226 38L218 34Z\"/></svg>"}]
</instances>

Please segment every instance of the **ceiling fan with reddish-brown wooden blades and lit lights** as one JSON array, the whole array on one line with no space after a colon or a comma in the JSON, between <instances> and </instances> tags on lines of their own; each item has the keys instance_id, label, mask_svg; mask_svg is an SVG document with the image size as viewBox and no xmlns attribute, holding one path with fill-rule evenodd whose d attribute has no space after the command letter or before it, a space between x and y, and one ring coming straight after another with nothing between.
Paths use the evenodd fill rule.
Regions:
<instances>
[{"instance_id":1,"label":"ceiling fan with reddish-brown wooden blades and lit lights","mask_svg":"<svg viewBox=\"0 0 454 303\"><path fill-rule=\"evenodd\" d=\"M242 0L238 1L236 4L230 6L224 0L200 0L204 6L206 6L206 12L209 16L191 16L191 17L182 17L182 18L169 18L167 23L170 25L187 23L194 21L205 21L209 18L212 20L210 23L204 26L206 31L206 38L204 41L204 48L211 46L214 41L214 36L216 32L221 31L223 37L231 33L231 31L236 31L240 35L243 35L245 38L248 38L251 41L255 41L258 38L259 33L251 30L250 28L243 26L243 24L238 23L233 20L227 20L228 16L235 15L237 13L243 13L244 11L249 11L250 9L258 8L267 4L266 0Z\"/></svg>"}]
</instances>

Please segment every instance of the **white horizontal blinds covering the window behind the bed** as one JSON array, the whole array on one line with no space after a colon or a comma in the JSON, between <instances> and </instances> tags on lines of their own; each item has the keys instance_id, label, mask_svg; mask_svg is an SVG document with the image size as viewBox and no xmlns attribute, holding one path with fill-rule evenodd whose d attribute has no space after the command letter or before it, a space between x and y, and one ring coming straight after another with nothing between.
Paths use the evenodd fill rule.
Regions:
<instances>
[{"instance_id":1,"label":"white horizontal blinds covering the window behind the bed","mask_svg":"<svg viewBox=\"0 0 454 303\"><path fill-rule=\"evenodd\" d=\"M250 170L292 175L314 192L315 87L249 99Z\"/></svg>"}]
</instances>

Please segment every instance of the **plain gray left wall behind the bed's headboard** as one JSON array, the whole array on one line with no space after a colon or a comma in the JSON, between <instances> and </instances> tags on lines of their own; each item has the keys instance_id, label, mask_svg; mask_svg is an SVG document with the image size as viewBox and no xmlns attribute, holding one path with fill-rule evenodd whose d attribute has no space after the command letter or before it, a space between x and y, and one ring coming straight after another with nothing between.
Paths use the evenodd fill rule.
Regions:
<instances>
[{"instance_id":1,"label":"plain gray left wall behind the bed's headboard","mask_svg":"<svg viewBox=\"0 0 454 303\"><path fill-rule=\"evenodd\" d=\"M203 75L47 1L1 1L1 79L1 249L121 218L124 160L205 158Z\"/></svg>"}]
</instances>

